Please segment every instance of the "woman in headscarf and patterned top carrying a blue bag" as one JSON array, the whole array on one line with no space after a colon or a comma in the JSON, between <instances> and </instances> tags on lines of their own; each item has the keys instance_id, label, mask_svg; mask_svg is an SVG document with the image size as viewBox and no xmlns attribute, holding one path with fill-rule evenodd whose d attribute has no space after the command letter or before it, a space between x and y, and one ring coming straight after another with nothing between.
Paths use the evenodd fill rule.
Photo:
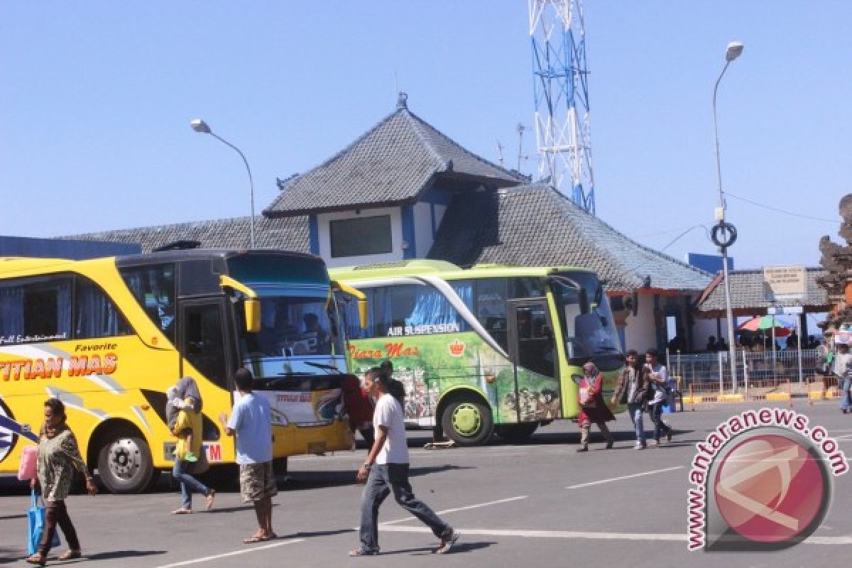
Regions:
<instances>
[{"instance_id":1,"label":"woman in headscarf and patterned top carrying a blue bag","mask_svg":"<svg viewBox=\"0 0 852 568\"><path fill-rule=\"evenodd\" d=\"M68 542L68 549L60 554L59 559L70 560L83 556L77 531L65 505L75 469L86 477L86 491L89 495L97 495L95 481L80 455L77 438L66 423L65 404L60 399L47 399L44 402L44 423L38 433L37 478L30 482L32 489L41 491L44 496L47 512L38 550L26 558L29 564L43 566L47 563L56 525L60 526Z\"/></svg>"}]
</instances>

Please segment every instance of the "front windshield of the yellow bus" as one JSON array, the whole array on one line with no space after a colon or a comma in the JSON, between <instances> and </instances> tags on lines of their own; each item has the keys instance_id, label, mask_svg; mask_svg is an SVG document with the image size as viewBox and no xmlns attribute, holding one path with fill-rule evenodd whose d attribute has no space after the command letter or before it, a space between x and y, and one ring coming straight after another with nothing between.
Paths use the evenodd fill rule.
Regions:
<instances>
[{"instance_id":1,"label":"front windshield of the yellow bus","mask_svg":"<svg viewBox=\"0 0 852 568\"><path fill-rule=\"evenodd\" d=\"M334 303L324 297L262 295L261 330L240 333L243 363L259 367L257 378L324 375L323 365L345 355L336 322Z\"/></svg>"}]
</instances>

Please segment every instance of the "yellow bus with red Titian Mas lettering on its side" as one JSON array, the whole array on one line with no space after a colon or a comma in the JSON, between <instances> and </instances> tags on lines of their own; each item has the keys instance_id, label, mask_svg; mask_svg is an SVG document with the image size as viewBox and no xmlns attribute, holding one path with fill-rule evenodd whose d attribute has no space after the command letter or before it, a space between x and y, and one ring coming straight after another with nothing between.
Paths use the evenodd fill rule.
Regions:
<instances>
[{"instance_id":1,"label":"yellow bus with red Titian Mas lettering on its side","mask_svg":"<svg viewBox=\"0 0 852 568\"><path fill-rule=\"evenodd\" d=\"M271 404L279 464L349 449L332 288L320 258L279 250L0 259L0 473L17 470L57 397L103 485L144 491L172 466L165 392L181 376L199 384L210 463L233 463L217 416L240 366Z\"/></svg>"}]
</instances>

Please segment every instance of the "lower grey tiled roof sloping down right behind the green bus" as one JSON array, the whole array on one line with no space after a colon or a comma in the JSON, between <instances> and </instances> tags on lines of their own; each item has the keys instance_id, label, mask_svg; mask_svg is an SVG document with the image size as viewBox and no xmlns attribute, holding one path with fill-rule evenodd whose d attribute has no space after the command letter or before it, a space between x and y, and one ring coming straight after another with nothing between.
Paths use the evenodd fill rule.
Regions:
<instances>
[{"instance_id":1,"label":"lower grey tiled roof sloping down right behind the green bus","mask_svg":"<svg viewBox=\"0 0 852 568\"><path fill-rule=\"evenodd\" d=\"M704 290L711 281L711 274L636 243L545 185L458 194L429 258L589 267L607 280L607 290L634 290L648 276L663 290Z\"/></svg>"}]
</instances>

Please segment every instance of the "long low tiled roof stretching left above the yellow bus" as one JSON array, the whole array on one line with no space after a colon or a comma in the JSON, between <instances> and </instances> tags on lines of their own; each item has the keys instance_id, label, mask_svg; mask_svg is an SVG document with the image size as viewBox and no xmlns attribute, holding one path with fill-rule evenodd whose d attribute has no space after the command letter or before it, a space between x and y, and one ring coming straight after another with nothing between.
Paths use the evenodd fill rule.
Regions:
<instances>
[{"instance_id":1,"label":"long low tiled roof stretching left above the yellow bus","mask_svg":"<svg viewBox=\"0 0 852 568\"><path fill-rule=\"evenodd\" d=\"M204 249L241 249L249 246L250 218L215 219L192 221L156 227L137 227L117 231L89 232L61 238L80 241L112 241L117 243L139 243L142 252L180 240L199 241ZM255 219L255 241L258 249L285 249L310 252L308 217Z\"/></svg>"}]
</instances>

